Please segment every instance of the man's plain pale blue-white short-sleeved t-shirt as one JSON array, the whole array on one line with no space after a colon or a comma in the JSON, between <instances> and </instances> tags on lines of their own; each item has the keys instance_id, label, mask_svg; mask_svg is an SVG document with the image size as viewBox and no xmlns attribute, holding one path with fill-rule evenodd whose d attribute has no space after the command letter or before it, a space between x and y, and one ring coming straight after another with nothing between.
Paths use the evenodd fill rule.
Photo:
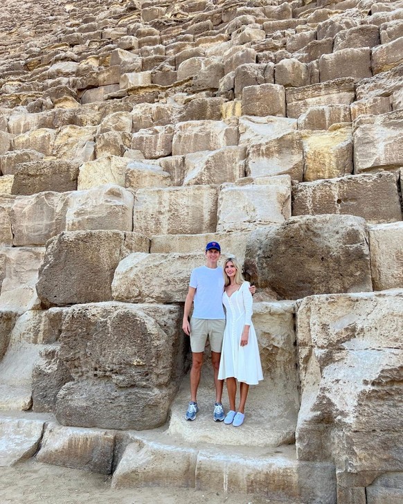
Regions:
<instances>
[{"instance_id":1,"label":"man's plain pale blue-white short-sleeved t-shirt","mask_svg":"<svg viewBox=\"0 0 403 504\"><path fill-rule=\"evenodd\" d=\"M195 268L190 275L190 287L196 289L193 300L193 315L195 318L225 319L222 305L224 292L224 275L222 267Z\"/></svg>"}]
</instances>

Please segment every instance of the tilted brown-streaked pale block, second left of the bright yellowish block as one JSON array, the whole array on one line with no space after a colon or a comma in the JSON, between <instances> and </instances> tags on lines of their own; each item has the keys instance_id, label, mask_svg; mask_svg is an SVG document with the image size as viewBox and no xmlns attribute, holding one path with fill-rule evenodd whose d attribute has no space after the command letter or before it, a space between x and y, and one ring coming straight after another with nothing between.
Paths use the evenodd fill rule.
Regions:
<instances>
[{"instance_id":1,"label":"tilted brown-streaked pale block, second left of the bright yellowish block","mask_svg":"<svg viewBox=\"0 0 403 504\"><path fill-rule=\"evenodd\" d=\"M235 182L244 177L244 159L244 147L237 146L187 154L183 186Z\"/></svg>"}]
</instances>

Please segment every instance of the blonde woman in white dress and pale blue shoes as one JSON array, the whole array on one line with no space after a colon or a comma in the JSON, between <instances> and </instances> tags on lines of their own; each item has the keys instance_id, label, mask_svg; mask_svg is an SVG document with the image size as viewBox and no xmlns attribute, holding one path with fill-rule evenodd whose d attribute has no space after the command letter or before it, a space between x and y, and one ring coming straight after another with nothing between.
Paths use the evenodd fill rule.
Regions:
<instances>
[{"instance_id":1,"label":"blonde woman in white dress and pale blue shoes","mask_svg":"<svg viewBox=\"0 0 403 504\"><path fill-rule=\"evenodd\" d=\"M258 339L251 321L252 296L249 282L242 278L238 260L229 258L224 263L224 294L222 302L226 309L226 326L218 379L226 379L230 411L224 424L239 427L244 422L244 408L249 385L257 385L263 379ZM235 410L237 382L240 382L240 404Z\"/></svg>"}]
</instances>

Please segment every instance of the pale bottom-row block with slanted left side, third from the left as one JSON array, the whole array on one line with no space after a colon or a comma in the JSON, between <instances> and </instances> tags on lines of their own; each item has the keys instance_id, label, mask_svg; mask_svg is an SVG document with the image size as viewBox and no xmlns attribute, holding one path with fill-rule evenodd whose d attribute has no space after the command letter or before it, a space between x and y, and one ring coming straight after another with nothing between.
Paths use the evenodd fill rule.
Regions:
<instances>
[{"instance_id":1,"label":"pale bottom-row block with slanted left side, third from the left","mask_svg":"<svg viewBox=\"0 0 403 504\"><path fill-rule=\"evenodd\" d=\"M158 481L164 487L195 487L196 460L197 449L193 447L167 447L136 436L127 445L111 485L152 487Z\"/></svg>"}]
</instances>

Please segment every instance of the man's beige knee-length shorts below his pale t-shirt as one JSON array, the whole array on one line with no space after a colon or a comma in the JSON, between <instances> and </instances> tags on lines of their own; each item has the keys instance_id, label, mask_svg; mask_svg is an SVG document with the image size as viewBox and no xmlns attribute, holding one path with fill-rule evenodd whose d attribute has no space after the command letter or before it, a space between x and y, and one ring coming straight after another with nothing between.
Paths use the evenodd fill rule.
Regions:
<instances>
[{"instance_id":1,"label":"man's beige knee-length shorts below his pale t-shirt","mask_svg":"<svg viewBox=\"0 0 403 504\"><path fill-rule=\"evenodd\" d=\"M211 351L221 353L224 328L224 319L190 318L190 348L192 352L204 352L208 337Z\"/></svg>"}]
</instances>

